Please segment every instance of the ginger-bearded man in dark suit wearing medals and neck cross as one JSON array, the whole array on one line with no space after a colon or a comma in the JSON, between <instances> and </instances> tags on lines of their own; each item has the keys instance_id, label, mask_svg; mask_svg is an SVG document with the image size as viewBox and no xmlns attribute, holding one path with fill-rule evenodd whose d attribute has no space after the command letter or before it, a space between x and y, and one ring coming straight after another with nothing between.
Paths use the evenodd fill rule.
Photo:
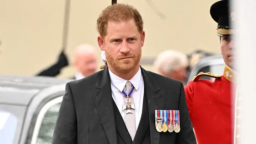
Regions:
<instances>
[{"instance_id":1,"label":"ginger-bearded man in dark suit wearing medals and neck cross","mask_svg":"<svg viewBox=\"0 0 256 144\"><path fill-rule=\"evenodd\" d=\"M196 144L182 82L139 64L145 39L139 12L108 6L97 30L107 66L66 84L52 144ZM155 110L179 112L180 130L163 129L156 121L164 116Z\"/></svg>"}]
</instances>

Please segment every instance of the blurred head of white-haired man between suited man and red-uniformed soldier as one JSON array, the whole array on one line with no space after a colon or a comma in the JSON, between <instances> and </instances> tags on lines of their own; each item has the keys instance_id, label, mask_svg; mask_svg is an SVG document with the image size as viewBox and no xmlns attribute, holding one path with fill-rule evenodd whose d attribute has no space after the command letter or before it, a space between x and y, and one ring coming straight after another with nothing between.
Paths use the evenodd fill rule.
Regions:
<instances>
[{"instance_id":1,"label":"blurred head of white-haired man between suited man and red-uniformed soldier","mask_svg":"<svg viewBox=\"0 0 256 144\"><path fill-rule=\"evenodd\" d=\"M175 50L165 50L154 61L158 73L169 78L179 80L186 85L187 80L187 55Z\"/></svg>"}]
</instances>

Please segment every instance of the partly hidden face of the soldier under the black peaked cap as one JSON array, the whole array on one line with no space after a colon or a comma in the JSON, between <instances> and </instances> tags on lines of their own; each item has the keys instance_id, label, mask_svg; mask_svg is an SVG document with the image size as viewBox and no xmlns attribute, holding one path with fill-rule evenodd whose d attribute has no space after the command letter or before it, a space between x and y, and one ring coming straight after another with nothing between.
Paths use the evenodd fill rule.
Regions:
<instances>
[{"instance_id":1,"label":"partly hidden face of the soldier under the black peaked cap","mask_svg":"<svg viewBox=\"0 0 256 144\"><path fill-rule=\"evenodd\" d=\"M232 36L221 37L220 39L221 54L224 62L230 68L233 68L234 59L234 41Z\"/></svg>"}]
</instances>

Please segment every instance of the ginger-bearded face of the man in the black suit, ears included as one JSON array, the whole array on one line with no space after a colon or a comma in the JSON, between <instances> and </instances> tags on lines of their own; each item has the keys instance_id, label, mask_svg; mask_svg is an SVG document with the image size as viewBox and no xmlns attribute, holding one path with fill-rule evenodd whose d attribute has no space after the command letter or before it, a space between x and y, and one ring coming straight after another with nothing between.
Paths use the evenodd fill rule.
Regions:
<instances>
[{"instance_id":1,"label":"ginger-bearded face of the man in the black suit, ears included","mask_svg":"<svg viewBox=\"0 0 256 144\"><path fill-rule=\"evenodd\" d=\"M107 35L104 40L99 36L98 43L109 67L126 73L139 65L144 38L145 32L138 31L134 20L108 22Z\"/></svg>"}]
</instances>

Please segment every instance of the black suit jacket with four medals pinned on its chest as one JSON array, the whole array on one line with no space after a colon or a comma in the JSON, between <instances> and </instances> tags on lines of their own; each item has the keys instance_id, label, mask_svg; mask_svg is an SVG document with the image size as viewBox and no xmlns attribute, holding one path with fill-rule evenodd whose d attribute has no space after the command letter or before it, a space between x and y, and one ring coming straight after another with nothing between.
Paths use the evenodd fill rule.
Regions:
<instances>
[{"instance_id":1,"label":"black suit jacket with four medals pinned on its chest","mask_svg":"<svg viewBox=\"0 0 256 144\"><path fill-rule=\"evenodd\" d=\"M149 128L144 133L150 133L150 143L196 144L182 82L143 68L141 70L149 121ZM155 110L180 110L181 131L157 132ZM52 144L117 144L117 138L120 137L117 137L119 133L116 123L119 124L120 121L115 119L110 75L108 68L105 68L84 79L66 84ZM137 134L133 144L141 143L141 140L135 141L139 139L136 136Z\"/></svg>"}]
</instances>

